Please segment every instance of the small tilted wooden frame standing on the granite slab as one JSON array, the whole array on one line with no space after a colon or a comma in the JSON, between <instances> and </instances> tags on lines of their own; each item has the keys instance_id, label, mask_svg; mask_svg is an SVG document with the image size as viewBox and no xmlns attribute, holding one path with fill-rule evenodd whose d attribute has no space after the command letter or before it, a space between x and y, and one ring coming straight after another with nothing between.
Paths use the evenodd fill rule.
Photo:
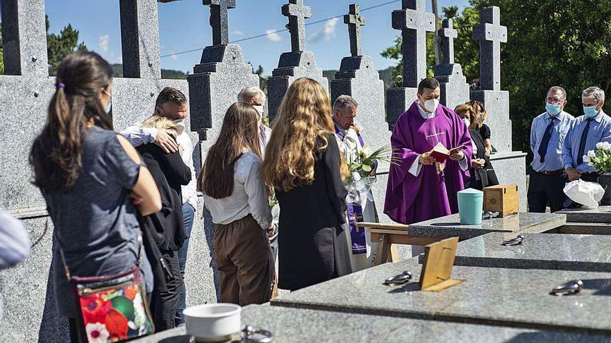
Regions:
<instances>
[{"instance_id":1,"label":"small tilted wooden frame standing on the granite slab","mask_svg":"<svg viewBox=\"0 0 611 343\"><path fill-rule=\"evenodd\" d=\"M420 273L420 289L440 292L462 280L451 279L458 237L447 238L424 247L424 263Z\"/></svg>"}]
</instances>

